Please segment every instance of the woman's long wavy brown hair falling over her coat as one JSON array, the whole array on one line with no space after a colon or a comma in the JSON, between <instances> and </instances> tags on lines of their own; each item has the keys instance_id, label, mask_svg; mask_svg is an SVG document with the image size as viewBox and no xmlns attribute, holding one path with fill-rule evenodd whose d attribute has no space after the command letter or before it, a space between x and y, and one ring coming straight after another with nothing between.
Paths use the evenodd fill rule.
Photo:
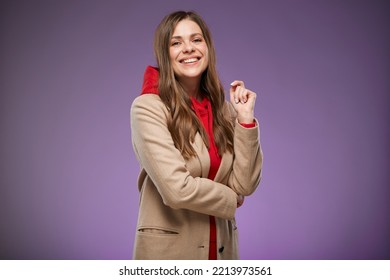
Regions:
<instances>
[{"instance_id":1,"label":"woman's long wavy brown hair falling over her coat","mask_svg":"<svg viewBox=\"0 0 390 280\"><path fill-rule=\"evenodd\" d=\"M163 103L170 111L168 129L176 148L183 157L188 159L195 156L191 146L197 131L209 148L209 139L205 129L191 109L190 96L175 79L175 73L169 59L171 37L176 25L183 19L194 21L202 30L208 47L209 63L202 74L200 89L209 98L213 112L213 132L218 152L233 152L233 124L223 114L225 93L216 70L216 55L210 31L203 19L195 12L177 11L167 15L156 29L154 37L154 53L159 67L159 92Z\"/></svg>"}]
</instances>

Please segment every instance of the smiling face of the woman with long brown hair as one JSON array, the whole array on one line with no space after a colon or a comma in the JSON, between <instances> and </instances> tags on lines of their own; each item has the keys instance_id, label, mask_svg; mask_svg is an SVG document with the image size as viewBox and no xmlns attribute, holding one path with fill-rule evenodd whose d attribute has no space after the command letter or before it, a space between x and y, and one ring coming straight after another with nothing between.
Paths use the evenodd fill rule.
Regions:
<instances>
[{"instance_id":1,"label":"smiling face of the woman with long brown hair","mask_svg":"<svg viewBox=\"0 0 390 280\"><path fill-rule=\"evenodd\" d=\"M209 59L206 41L197 23L184 19L176 25L171 38L169 57L180 82L200 81Z\"/></svg>"}]
</instances>

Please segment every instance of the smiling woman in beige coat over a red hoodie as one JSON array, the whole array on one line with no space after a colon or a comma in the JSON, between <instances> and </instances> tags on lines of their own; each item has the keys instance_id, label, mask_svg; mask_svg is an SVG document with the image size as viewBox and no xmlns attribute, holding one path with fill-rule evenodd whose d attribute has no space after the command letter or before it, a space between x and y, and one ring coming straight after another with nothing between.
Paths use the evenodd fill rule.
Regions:
<instances>
[{"instance_id":1,"label":"smiling woman in beige coat over a red hoodie","mask_svg":"<svg viewBox=\"0 0 390 280\"><path fill-rule=\"evenodd\" d=\"M237 259L235 211L259 184L256 94L234 81L230 102L215 50L194 12L166 16L131 108L141 165L135 259Z\"/></svg>"}]
</instances>

